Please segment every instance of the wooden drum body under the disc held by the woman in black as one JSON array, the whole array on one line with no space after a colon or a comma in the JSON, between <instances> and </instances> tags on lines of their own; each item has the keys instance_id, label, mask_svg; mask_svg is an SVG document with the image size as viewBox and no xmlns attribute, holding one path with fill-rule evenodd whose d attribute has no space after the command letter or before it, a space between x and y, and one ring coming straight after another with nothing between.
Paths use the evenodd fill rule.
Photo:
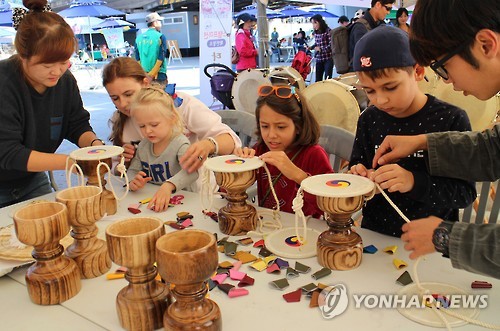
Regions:
<instances>
[{"instance_id":1,"label":"wooden drum body under the disc held by the woman in black","mask_svg":"<svg viewBox=\"0 0 500 331\"><path fill-rule=\"evenodd\" d=\"M106 158L102 160L76 160L76 163L82 168L83 174L87 177L87 185L99 186L98 176L101 177L102 183L102 201L104 203L104 207L106 213L108 215L116 214L118 209L118 203L116 201L113 192L109 191L106 188L106 179L104 179L104 175L107 172L107 168L104 166L100 167L99 174L97 174L97 166L99 163L106 163L111 169L113 165L112 158Z\"/></svg>"}]
</instances>

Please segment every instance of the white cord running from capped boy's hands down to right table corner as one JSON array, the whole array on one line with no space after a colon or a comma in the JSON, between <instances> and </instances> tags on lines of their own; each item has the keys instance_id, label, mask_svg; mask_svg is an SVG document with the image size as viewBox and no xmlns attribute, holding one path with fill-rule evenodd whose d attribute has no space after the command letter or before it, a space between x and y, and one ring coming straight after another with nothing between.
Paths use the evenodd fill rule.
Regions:
<instances>
[{"instance_id":1,"label":"white cord running from capped boy's hands down to right table corner","mask_svg":"<svg viewBox=\"0 0 500 331\"><path fill-rule=\"evenodd\" d=\"M394 204L394 202L391 200L391 198L389 198L389 196L384 192L384 190L382 190L380 185L378 185L377 183L375 183L375 185L376 185L377 189L379 190L379 192L382 193L384 198L387 200L387 202L399 214L399 216L401 216L406 223L410 223L410 220L408 219L408 217L406 217L406 215L403 214L403 212L398 208L398 206L396 206L396 204ZM429 291L429 289L426 289L425 287L422 286L422 283L420 282L420 278L418 277L417 268L418 268L418 264L419 264L421 258L422 258L421 256L418 257L417 260L415 261L415 264L413 265L413 278L415 279L415 285L417 286L417 289L420 291L420 295L424 295L424 294L429 294L430 291ZM431 303L431 308L432 308L432 311L434 313L436 313L436 315L439 317L439 319L441 319L441 321L443 322L443 324L447 330L451 330L451 325L448 322L448 320L444 317L443 313L450 315L450 316L453 316L455 318L461 319L462 321L482 326L482 327L487 328L487 329L500 330L500 325L485 323L485 322L470 318L468 316L464 316L462 314L451 312L450 309L439 309L434 302Z\"/></svg>"}]
</instances>

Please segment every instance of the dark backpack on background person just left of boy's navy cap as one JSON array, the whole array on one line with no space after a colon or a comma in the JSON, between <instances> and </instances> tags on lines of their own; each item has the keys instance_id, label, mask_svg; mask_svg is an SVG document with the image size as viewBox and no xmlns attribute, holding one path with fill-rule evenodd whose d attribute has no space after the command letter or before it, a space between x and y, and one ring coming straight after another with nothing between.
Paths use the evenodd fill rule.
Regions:
<instances>
[{"instance_id":1,"label":"dark backpack on background person just left of boy's navy cap","mask_svg":"<svg viewBox=\"0 0 500 331\"><path fill-rule=\"evenodd\" d=\"M368 21L364 18L358 19L354 24L357 23L363 24L368 31L372 29ZM333 29L331 33L333 63L339 74L349 72L352 62L352 59L349 58L349 33L354 24L349 27L339 26Z\"/></svg>"}]
</instances>

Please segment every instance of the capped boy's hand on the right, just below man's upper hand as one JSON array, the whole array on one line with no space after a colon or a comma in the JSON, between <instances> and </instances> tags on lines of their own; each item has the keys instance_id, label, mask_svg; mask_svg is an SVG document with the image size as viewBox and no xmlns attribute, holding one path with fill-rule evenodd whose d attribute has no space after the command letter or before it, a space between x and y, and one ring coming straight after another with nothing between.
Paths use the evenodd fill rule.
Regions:
<instances>
[{"instance_id":1,"label":"capped boy's hand on the right, just below man's upper hand","mask_svg":"<svg viewBox=\"0 0 500 331\"><path fill-rule=\"evenodd\" d=\"M388 164L378 168L370 178L389 192L406 193L411 191L415 184L413 174L397 164Z\"/></svg>"}]
</instances>

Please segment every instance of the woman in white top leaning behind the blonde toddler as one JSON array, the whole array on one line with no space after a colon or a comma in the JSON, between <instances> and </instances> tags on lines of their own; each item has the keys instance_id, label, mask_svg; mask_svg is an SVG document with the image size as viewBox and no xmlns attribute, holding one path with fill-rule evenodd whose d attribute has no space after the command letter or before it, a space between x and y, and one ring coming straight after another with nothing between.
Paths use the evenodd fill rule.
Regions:
<instances>
[{"instance_id":1,"label":"woman in white top leaning behind the blonde toddler","mask_svg":"<svg viewBox=\"0 0 500 331\"><path fill-rule=\"evenodd\" d=\"M116 112L110 119L109 140L123 146L124 157L130 162L134 144L143 138L137 125L130 120L130 103L134 94L149 86L146 73L137 61L129 57L113 59L103 68L103 86L113 101ZM187 93L170 91L184 123L184 135L191 143L181 165L189 173L197 171L210 155L231 154L241 141L219 115Z\"/></svg>"}]
</instances>

